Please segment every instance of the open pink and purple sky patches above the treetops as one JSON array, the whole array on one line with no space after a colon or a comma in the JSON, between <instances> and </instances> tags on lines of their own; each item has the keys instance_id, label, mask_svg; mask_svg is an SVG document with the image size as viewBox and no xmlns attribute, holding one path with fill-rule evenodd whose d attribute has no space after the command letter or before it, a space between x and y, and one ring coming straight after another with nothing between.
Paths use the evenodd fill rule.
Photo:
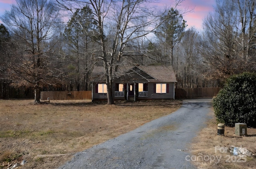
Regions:
<instances>
[{"instance_id":1,"label":"open pink and purple sky patches above the treetops","mask_svg":"<svg viewBox=\"0 0 256 169\"><path fill-rule=\"evenodd\" d=\"M0 0L0 16L4 14L5 10L10 10L10 4L14 4L15 0ZM172 6L173 0L160 0L158 6ZM212 12L215 0L184 0L178 8L182 10L194 10L183 15L186 20L188 28L194 27L202 30L203 19L209 12ZM0 23L2 23L0 21Z\"/></svg>"}]
</instances>

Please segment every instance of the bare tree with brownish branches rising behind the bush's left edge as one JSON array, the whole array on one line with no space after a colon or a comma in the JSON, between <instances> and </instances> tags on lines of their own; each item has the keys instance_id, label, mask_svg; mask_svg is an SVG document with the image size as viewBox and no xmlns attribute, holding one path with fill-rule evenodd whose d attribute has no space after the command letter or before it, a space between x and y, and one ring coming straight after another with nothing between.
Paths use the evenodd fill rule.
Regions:
<instances>
[{"instance_id":1,"label":"bare tree with brownish branches rising behind the bush's left edge","mask_svg":"<svg viewBox=\"0 0 256 169\"><path fill-rule=\"evenodd\" d=\"M235 11L231 1L217 2L215 12L204 20L204 41L200 51L208 66L213 68L210 72L213 77L226 77L236 69L238 29Z\"/></svg>"}]
</instances>

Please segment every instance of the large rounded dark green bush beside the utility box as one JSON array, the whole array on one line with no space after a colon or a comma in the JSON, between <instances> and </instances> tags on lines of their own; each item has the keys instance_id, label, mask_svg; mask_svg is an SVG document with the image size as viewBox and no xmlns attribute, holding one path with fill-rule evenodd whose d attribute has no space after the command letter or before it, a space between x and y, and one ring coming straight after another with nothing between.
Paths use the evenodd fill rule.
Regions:
<instances>
[{"instance_id":1,"label":"large rounded dark green bush beside the utility box","mask_svg":"<svg viewBox=\"0 0 256 169\"><path fill-rule=\"evenodd\" d=\"M230 77L212 101L217 121L228 126L256 127L256 73Z\"/></svg>"}]
</instances>

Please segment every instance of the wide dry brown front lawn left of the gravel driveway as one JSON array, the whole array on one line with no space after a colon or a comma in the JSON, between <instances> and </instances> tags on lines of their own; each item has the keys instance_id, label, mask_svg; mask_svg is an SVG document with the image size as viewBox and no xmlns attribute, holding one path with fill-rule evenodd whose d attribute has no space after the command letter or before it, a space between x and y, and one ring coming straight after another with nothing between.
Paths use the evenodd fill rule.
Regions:
<instances>
[{"instance_id":1,"label":"wide dry brown front lawn left of the gravel driveway","mask_svg":"<svg viewBox=\"0 0 256 169\"><path fill-rule=\"evenodd\" d=\"M84 100L51 100L50 104L0 100L0 168L24 159L27 162L21 168L58 168L74 153L168 115L181 104L178 100L119 101L115 105Z\"/></svg>"}]
</instances>

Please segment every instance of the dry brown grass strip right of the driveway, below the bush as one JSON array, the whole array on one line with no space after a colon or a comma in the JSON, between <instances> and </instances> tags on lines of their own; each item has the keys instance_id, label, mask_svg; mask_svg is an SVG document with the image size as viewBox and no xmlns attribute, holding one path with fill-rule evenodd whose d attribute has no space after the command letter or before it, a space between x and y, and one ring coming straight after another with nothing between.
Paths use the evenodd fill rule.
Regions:
<instances>
[{"instance_id":1,"label":"dry brown grass strip right of the driveway, below the bush","mask_svg":"<svg viewBox=\"0 0 256 169\"><path fill-rule=\"evenodd\" d=\"M208 121L208 126L200 131L191 145L191 153L196 158L188 159L193 161L194 165L199 169L256 169L255 158L247 157L240 159L232 155L230 149L226 152L224 149L220 149L222 147L230 148L230 146L235 146L243 147L252 153L256 153L256 129L248 128L248 136L240 137L234 134L234 127L225 126L224 136L217 135L218 123L213 112L212 110L212 119ZM212 158L212 160L208 159L208 157ZM217 158L220 159L219 162Z\"/></svg>"}]
</instances>

